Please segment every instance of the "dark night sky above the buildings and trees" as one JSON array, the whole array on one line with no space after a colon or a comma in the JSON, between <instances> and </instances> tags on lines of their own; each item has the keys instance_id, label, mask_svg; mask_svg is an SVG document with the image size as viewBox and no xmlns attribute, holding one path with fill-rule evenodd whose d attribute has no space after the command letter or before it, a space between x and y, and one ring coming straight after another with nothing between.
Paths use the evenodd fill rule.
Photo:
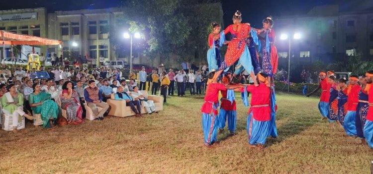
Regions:
<instances>
[{"instance_id":1,"label":"dark night sky above the buildings and trees","mask_svg":"<svg viewBox=\"0 0 373 174\"><path fill-rule=\"evenodd\" d=\"M56 10L77 10L116 7L122 0L16 0L14 3L3 3L0 10L16 8L46 7L48 12ZM260 28L261 21L272 15L276 16L305 14L315 5L340 4L341 10L373 9L373 0L222 0L224 23L232 23L236 10L242 12L243 22Z\"/></svg>"}]
</instances>

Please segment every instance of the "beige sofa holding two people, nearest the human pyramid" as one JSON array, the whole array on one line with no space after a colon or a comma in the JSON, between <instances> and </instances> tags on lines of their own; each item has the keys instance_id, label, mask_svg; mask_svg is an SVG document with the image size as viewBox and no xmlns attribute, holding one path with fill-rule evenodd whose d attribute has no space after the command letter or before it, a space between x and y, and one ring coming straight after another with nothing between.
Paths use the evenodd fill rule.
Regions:
<instances>
[{"instance_id":1,"label":"beige sofa holding two people, nearest the human pyramid","mask_svg":"<svg viewBox=\"0 0 373 174\"><path fill-rule=\"evenodd\" d=\"M148 95L147 91L140 91L144 96L154 101L155 110L162 111L163 110L163 96L155 96L155 95ZM127 93L131 95L131 92ZM126 101L115 100L114 94L111 94L111 99L107 100L107 104L110 105L111 110L109 112L109 116L134 116L135 113L131 110L131 107L126 106ZM144 106L141 106L141 113L147 113Z\"/></svg>"}]
</instances>

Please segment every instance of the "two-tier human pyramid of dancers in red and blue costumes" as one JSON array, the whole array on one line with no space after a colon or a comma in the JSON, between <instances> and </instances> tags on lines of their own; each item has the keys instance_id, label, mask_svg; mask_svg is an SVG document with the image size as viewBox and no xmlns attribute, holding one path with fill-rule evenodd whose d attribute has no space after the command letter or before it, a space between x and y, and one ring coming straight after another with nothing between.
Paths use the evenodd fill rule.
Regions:
<instances>
[{"instance_id":1,"label":"two-tier human pyramid of dancers in red and blue costumes","mask_svg":"<svg viewBox=\"0 0 373 174\"><path fill-rule=\"evenodd\" d=\"M234 91L242 92L244 105L248 107L247 92L252 95L251 107L247 118L248 146L263 148L268 136L277 137L276 99L273 88L273 74L277 71L278 54L275 47L275 31L272 17L263 20L263 28L255 29L248 23L241 23L241 12L233 15L233 24L220 32L219 24L213 22L208 43L208 74L206 95L201 108L204 145L211 147L217 143L218 128L223 131L228 118L228 129L235 134L236 103ZM231 34L231 41L225 41L225 34ZM220 47L228 44L224 61L221 61ZM257 49L262 53L260 67ZM224 74L221 83L218 78L223 71L238 61L233 75ZM243 70L250 73L253 85L232 84L232 79ZM221 91L221 107L218 114L218 95Z\"/></svg>"}]
</instances>

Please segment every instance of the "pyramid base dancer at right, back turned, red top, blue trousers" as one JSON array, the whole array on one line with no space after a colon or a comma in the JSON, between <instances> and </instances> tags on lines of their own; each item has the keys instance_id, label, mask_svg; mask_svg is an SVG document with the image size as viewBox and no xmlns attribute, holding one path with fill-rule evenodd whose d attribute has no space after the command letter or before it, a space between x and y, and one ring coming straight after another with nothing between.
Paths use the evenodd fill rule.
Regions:
<instances>
[{"instance_id":1,"label":"pyramid base dancer at right, back turned, red top, blue trousers","mask_svg":"<svg viewBox=\"0 0 373 174\"><path fill-rule=\"evenodd\" d=\"M259 73L259 86L249 85L242 90L251 92L251 107L247 117L248 146L263 148L273 126L271 123L271 90L267 86L267 75Z\"/></svg>"}]
</instances>

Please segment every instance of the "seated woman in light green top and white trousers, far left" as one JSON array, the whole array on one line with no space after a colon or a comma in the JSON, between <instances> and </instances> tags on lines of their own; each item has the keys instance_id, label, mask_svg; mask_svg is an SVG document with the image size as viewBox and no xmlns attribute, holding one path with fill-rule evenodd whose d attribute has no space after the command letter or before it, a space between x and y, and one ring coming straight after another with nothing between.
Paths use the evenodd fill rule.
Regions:
<instances>
[{"instance_id":1,"label":"seated woman in light green top and white trousers, far left","mask_svg":"<svg viewBox=\"0 0 373 174\"><path fill-rule=\"evenodd\" d=\"M13 132L17 131L17 126L18 123L20 123L20 118L22 116L30 120L33 119L33 116L29 116L23 112L23 95L21 93L17 93L16 89L15 84L10 84L7 86L7 90L9 92L5 93L4 96L1 97L2 111L4 114L12 115Z\"/></svg>"}]
</instances>

